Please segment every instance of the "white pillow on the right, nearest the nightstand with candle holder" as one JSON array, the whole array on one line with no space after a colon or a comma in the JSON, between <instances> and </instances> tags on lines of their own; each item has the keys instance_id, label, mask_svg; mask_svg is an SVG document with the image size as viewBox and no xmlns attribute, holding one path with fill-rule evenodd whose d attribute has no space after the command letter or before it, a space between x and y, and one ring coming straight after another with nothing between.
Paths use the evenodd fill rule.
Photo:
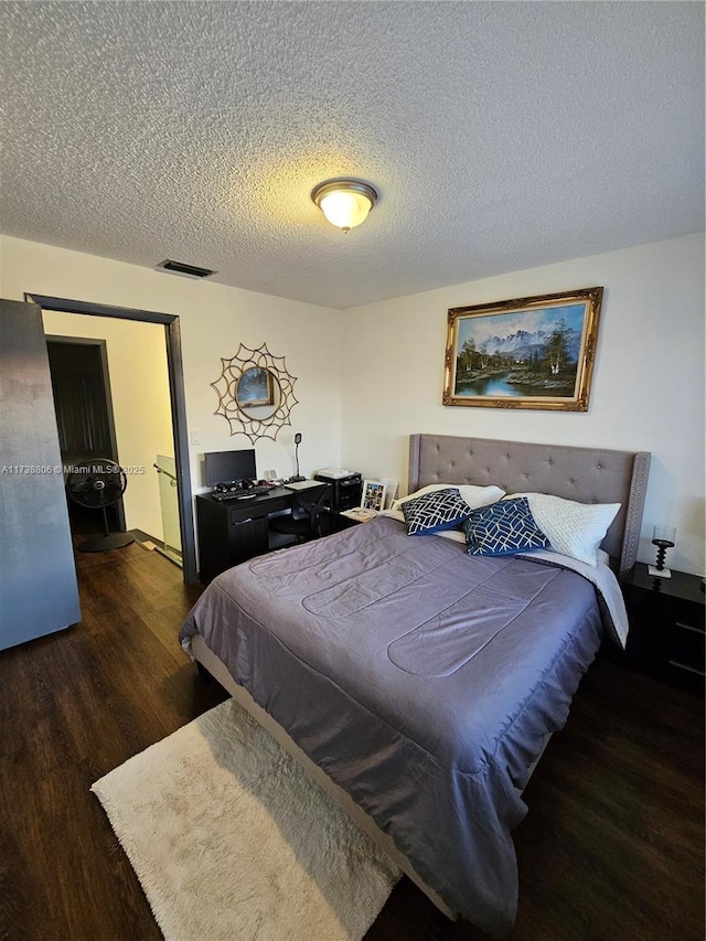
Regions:
<instances>
[{"instance_id":1,"label":"white pillow on the right, nearest the nightstand with candle holder","mask_svg":"<svg viewBox=\"0 0 706 941\"><path fill-rule=\"evenodd\" d=\"M557 553L593 567L598 564L598 549L620 503L577 503L548 493L513 493L511 496L527 498L537 526Z\"/></svg>"}]
</instances>

